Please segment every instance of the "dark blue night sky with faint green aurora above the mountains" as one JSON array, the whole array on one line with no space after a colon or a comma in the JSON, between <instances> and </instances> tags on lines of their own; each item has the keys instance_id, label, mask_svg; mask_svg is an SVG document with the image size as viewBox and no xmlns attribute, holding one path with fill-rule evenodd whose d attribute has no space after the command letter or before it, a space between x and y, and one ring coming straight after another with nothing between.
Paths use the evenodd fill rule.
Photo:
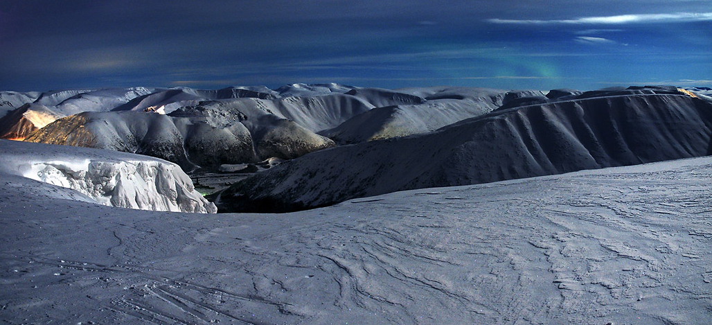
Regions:
<instances>
[{"instance_id":1,"label":"dark blue night sky with faint green aurora above the mountains","mask_svg":"<svg viewBox=\"0 0 712 325\"><path fill-rule=\"evenodd\" d=\"M712 86L712 0L0 0L0 90Z\"/></svg>"}]
</instances>

